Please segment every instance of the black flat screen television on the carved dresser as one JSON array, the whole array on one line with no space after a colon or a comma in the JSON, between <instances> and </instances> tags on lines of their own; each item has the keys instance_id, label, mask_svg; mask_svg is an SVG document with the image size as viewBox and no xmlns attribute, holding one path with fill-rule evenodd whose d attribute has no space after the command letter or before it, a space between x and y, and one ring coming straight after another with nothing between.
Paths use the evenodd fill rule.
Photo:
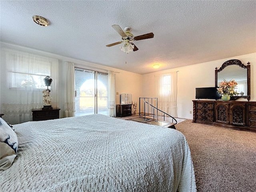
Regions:
<instances>
[{"instance_id":1,"label":"black flat screen television on the carved dresser","mask_svg":"<svg viewBox=\"0 0 256 192\"><path fill-rule=\"evenodd\" d=\"M218 100L221 95L217 93L216 87L196 88L196 99L215 99Z\"/></svg>"}]
</instances>

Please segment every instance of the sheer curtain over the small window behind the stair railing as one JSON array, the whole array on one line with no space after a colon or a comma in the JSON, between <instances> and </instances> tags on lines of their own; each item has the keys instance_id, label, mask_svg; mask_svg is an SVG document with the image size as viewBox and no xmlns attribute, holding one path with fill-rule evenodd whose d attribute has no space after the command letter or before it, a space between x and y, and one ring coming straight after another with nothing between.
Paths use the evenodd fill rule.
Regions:
<instances>
[{"instance_id":1,"label":"sheer curtain over the small window behind the stair railing","mask_svg":"<svg viewBox=\"0 0 256 192\"><path fill-rule=\"evenodd\" d=\"M154 78L158 108L173 117L178 117L177 72L155 75ZM162 113L158 114L162 115Z\"/></svg>"}]
</instances>

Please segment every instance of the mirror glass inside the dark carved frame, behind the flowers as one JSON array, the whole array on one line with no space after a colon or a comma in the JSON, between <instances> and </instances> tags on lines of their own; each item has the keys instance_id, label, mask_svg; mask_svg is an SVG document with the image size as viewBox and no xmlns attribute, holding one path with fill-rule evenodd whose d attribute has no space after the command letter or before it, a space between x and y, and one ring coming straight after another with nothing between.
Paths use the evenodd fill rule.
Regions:
<instances>
[{"instance_id":1,"label":"mirror glass inside the dark carved frame, behind the flowers","mask_svg":"<svg viewBox=\"0 0 256 192\"><path fill-rule=\"evenodd\" d=\"M247 70L238 65L230 65L218 72L218 85L223 80L236 80L237 87L235 91L240 96L247 95Z\"/></svg>"}]
</instances>

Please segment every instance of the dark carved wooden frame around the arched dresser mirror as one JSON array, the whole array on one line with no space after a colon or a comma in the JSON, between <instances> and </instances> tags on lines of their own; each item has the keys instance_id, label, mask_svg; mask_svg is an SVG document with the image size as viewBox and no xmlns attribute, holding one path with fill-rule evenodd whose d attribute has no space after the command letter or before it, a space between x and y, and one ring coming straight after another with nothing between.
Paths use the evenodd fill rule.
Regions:
<instances>
[{"instance_id":1,"label":"dark carved wooden frame around the arched dresser mirror","mask_svg":"<svg viewBox=\"0 0 256 192\"><path fill-rule=\"evenodd\" d=\"M250 68L250 62L247 63L247 66L242 64L240 60L237 59L232 59L224 62L222 66L218 69L217 67L215 68L215 87L218 87L218 72L221 72L225 67L230 66L230 65L238 65L243 69L247 69L247 95L245 96L230 96L230 100L236 100L238 98L246 98L248 101L250 100L250 94L251 94L251 82L250 82L250 77L251 77L251 68Z\"/></svg>"}]
</instances>

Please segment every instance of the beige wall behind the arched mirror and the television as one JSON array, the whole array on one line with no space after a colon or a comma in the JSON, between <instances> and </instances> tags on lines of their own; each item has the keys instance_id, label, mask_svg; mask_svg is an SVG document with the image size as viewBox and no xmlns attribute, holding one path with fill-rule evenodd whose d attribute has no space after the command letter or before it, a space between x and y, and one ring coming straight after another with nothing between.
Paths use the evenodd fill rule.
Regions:
<instances>
[{"instance_id":1,"label":"beige wall behind the arched mirror and the television","mask_svg":"<svg viewBox=\"0 0 256 192\"><path fill-rule=\"evenodd\" d=\"M144 74L142 77L142 97L154 97L154 75L166 72L178 71L178 97L177 108L178 117L192 119L193 104L195 100L197 87L214 87L215 86L215 67L220 68L222 64L230 59L241 60L243 64L249 61L251 64L251 101L256 101L256 53L234 58L196 64L192 66L175 68L161 72ZM240 99L245 100L245 99ZM190 111L192 114L190 114Z\"/></svg>"}]
</instances>

